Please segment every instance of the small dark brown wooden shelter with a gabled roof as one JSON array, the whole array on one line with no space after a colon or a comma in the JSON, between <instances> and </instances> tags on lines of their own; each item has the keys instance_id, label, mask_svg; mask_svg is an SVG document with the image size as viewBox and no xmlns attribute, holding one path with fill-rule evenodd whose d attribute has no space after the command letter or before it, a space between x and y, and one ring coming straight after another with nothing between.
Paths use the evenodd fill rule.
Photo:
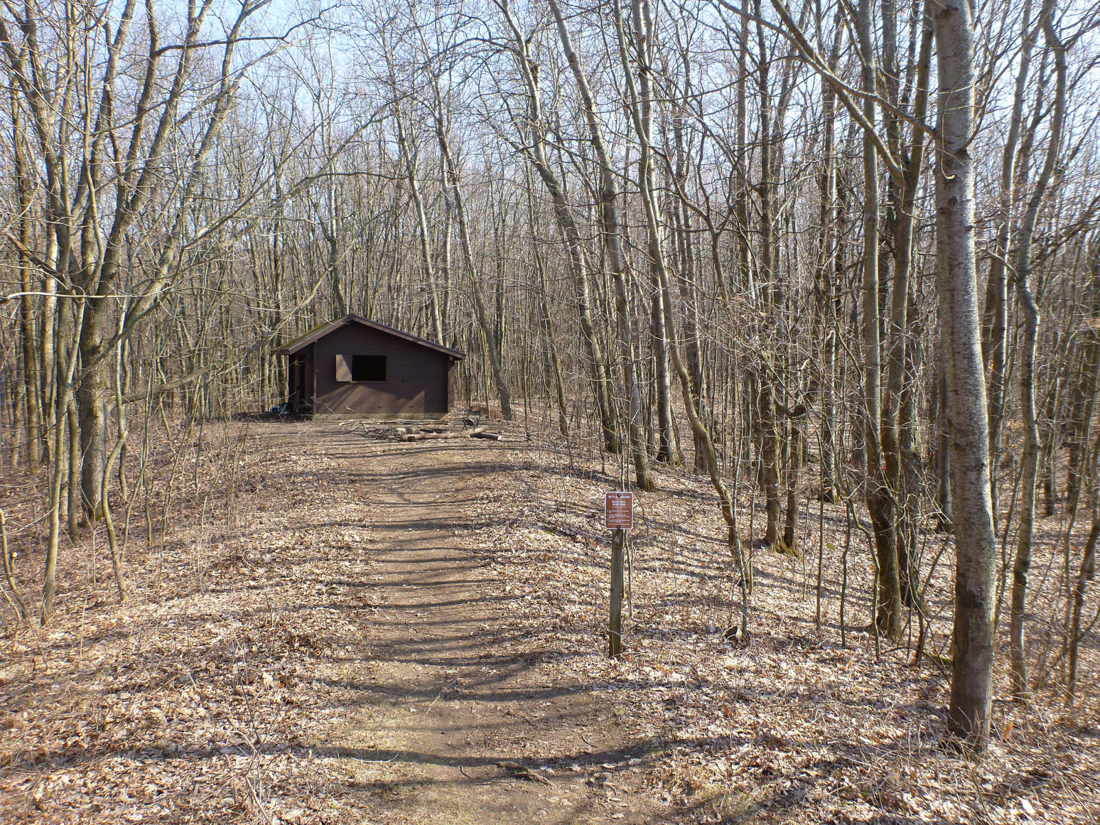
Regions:
<instances>
[{"instance_id":1,"label":"small dark brown wooden shelter with a gabled roof","mask_svg":"<svg viewBox=\"0 0 1100 825\"><path fill-rule=\"evenodd\" d=\"M440 418L465 354L358 315L280 346L287 407L314 417Z\"/></svg>"}]
</instances>

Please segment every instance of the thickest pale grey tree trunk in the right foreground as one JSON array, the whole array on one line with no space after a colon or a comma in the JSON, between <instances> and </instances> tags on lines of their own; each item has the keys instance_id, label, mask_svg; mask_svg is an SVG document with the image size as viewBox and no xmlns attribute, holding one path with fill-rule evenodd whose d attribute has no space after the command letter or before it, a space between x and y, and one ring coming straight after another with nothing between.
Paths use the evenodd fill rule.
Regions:
<instances>
[{"instance_id":1,"label":"thickest pale grey tree trunk in the right foreground","mask_svg":"<svg viewBox=\"0 0 1100 825\"><path fill-rule=\"evenodd\" d=\"M937 45L936 258L946 361L955 517L955 660L948 729L975 750L989 740L993 674L996 534L989 420L975 251L974 24L970 6L946 0L933 15Z\"/></svg>"}]
</instances>

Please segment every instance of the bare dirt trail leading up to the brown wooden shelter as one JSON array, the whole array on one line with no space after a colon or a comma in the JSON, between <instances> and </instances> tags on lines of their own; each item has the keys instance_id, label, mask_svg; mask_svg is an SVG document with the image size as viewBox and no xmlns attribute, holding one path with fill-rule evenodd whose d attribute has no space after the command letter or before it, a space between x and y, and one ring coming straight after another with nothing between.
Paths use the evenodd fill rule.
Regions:
<instances>
[{"instance_id":1,"label":"bare dirt trail leading up to the brown wooden shelter","mask_svg":"<svg viewBox=\"0 0 1100 825\"><path fill-rule=\"evenodd\" d=\"M542 667L554 651L507 638L505 583L462 549L479 522L471 494L495 483L506 448L353 436L330 448L372 514L373 609L346 669L359 702L345 740L326 744L354 755L367 821L657 821L645 746L600 691Z\"/></svg>"}]
</instances>

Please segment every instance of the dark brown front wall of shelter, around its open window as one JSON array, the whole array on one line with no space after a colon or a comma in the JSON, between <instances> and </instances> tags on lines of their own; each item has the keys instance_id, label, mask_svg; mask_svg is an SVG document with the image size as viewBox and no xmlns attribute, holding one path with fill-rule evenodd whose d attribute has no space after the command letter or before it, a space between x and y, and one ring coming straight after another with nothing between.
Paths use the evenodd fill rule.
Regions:
<instances>
[{"instance_id":1,"label":"dark brown front wall of shelter, around its open window","mask_svg":"<svg viewBox=\"0 0 1100 825\"><path fill-rule=\"evenodd\" d=\"M448 413L451 359L384 332L345 323L311 346L315 415L442 416ZM338 382L337 355L385 355L386 381Z\"/></svg>"}]
</instances>

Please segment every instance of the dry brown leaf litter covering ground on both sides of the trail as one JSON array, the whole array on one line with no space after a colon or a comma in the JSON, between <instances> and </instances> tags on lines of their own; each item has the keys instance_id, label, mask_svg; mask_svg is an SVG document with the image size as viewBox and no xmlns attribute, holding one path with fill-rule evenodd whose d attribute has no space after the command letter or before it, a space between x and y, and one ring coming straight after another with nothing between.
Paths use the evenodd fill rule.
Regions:
<instances>
[{"instance_id":1,"label":"dry brown leaf litter covering ground on both sides of the trail","mask_svg":"<svg viewBox=\"0 0 1100 825\"><path fill-rule=\"evenodd\" d=\"M207 452L187 466L193 488L175 479L166 540L146 548L131 537L128 603L113 601L102 539L86 536L63 549L54 622L7 626L0 821L371 821L349 790L348 757L317 744L340 739L353 701L338 676L354 666L358 617L374 609L370 586L359 585L377 578L372 550L386 541L372 531L377 514L326 450L334 428L210 429ZM153 480L161 503L169 447L160 447ZM713 495L702 480L668 471L658 492L636 493L627 652L609 661L600 505L619 485L600 458L546 436L433 449L482 454L484 477L468 505L479 518L447 538L496 574L497 622L509 639L496 652L538 651L547 678L558 668L605 692L614 724L648 744L645 758L587 777L608 804L629 810L630 794L646 794L668 822L684 823L1097 821L1094 640L1072 712L1049 696L1008 701L1001 656L990 751L960 759L944 747L943 668L914 667L908 649L884 644L876 656L866 624L873 570L855 540L840 645L839 506L825 507L823 537L816 519L803 519L806 552L818 538L823 548L822 629L816 559L758 551L743 648L724 637L739 603ZM30 593L41 564L34 488L10 487L9 525L29 525L13 530L13 546ZM741 504L747 525L751 503ZM340 518L321 517L333 513ZM936 573L941 594L949 573L949 564ZM934 616L930 645L944 650L949 607Z\"/></svg>"}]
</instances>

